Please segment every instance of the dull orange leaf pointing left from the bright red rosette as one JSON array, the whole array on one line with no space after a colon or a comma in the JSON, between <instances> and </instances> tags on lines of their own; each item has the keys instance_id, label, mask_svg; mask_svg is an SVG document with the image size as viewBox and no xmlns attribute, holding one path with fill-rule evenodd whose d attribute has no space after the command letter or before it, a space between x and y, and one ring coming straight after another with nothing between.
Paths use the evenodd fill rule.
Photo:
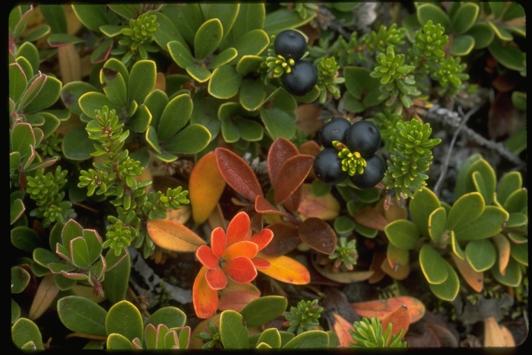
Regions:
<instances>
[{"instance_id":1,"label":"dull orange leaf pointing left from the bright red rosette","mask_svg":"<svg viewBox=\"0 0 532 355\"><path fill-rule=\"evenodd\" d=\"M148 220L147 230L155 244L172 252L195 252L206 244L197 234L172 220Z\"/></svg>"}]
</instances>

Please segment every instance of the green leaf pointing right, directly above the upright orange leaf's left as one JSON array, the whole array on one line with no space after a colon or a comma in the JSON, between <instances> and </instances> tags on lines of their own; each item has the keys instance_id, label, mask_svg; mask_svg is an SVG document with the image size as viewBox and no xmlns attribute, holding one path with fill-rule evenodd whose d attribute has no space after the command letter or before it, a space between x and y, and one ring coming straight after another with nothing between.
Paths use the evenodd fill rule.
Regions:
<instances>
[{"instance_id":1,"label":"green leaf pointing right, directly above the upright orange leaf's left","mask_svg":"<svg viewBox=\"0 0 532 355\"><path fill-rule=\"evenodd\" d=\"M203 150L211 141L211 133L203 125L191 124L177 135L161 144L165 150L177 155L194 154Z\"/></svg>"}]
</instances>

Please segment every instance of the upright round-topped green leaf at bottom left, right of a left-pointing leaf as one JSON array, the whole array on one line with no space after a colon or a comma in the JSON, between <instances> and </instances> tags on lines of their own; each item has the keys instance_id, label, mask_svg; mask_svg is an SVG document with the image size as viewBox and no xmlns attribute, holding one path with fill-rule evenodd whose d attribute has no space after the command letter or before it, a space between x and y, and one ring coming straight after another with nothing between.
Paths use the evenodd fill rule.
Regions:
<instances>
[{"instance_id":1,"label":"upright round-topped green leaf at bottom left, right of a left-pointing leaf","mask_svg":"<svg viewBox=\"0 0 532 355\"><path fill-rule=\"evenodd\" d=\"M118 333L130 341L144 337L142 315L131 302L121 301L114 304L105 318L105 331L107 335Z\"/></svg>"}]
</instances>

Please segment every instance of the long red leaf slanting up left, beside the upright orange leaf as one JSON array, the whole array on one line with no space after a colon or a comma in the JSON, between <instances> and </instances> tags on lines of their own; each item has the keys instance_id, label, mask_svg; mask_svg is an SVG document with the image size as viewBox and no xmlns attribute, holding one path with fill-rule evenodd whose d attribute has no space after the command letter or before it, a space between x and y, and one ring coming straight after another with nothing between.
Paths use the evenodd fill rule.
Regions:
<instances>
[{"instance_id":1,"label":"long red leaf slanting up left, beside the upright orange leaf","mask_svg":"<svg viewBox=\"0 0 532 355\"><path fill-rule=\"evenodd\" d=\"M216 148L215 154L220 173L230 187L250 201L263 196L255 173L244 159L225 148Z\"/></svg>"}]
</instances>

